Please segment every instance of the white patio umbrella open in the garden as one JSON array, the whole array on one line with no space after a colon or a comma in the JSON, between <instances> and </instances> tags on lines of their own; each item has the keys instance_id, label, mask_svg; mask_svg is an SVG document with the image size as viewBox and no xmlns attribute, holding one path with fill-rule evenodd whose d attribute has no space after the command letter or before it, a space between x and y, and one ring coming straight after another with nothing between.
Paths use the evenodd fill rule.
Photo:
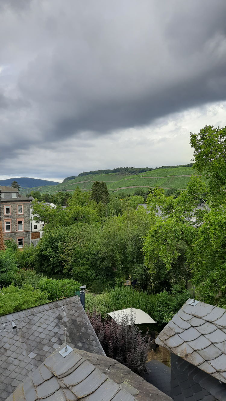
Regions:
<instances>
[{"instance_id":1,"label":"white patio umbrella open in the garden","mask_svg":"<svg viewBox=\"0 0 226 401\"><path fill-rule=\"evenodd\" d=\"M116 310L115 312L109 312L109 316L115 320L117 324L119 324L122 320L128 321L128 326L132 323L134 324L142 324L142 323L156 323L151 316L145 313L141 309L128 308Z\"/></svg>"}]
</instances>

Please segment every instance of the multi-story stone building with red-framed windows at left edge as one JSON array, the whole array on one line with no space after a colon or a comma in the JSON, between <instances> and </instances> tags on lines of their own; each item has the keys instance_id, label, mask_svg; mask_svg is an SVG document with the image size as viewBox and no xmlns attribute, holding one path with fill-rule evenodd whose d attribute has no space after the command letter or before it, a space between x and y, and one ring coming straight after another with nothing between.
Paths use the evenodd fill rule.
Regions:
<instances>
[{"instance_id":1,"label":"multi-story stone building with red-framed windows at left edge","mask_svg":"<svg viewBox=\"0 0 226 401\"><path fill-rule=\"evenodd\" d=\"M0 186L3 239L15 241L18 248L31 244L30 205L30 199L20 195L17 188Z\"/></svg>"}]
</instances>

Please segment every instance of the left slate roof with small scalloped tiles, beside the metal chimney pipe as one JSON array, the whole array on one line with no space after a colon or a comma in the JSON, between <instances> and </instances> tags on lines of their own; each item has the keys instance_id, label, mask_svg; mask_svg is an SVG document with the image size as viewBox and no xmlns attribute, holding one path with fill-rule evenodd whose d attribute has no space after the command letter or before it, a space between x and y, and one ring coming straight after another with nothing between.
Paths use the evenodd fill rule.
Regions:
<instances>
[{"instance_id":1,"label":"left slate roof with small scalloped tiles, beside the metal chimney pipe","mask_svg":"<svg viewBox=\"0 0 226 401\"><path fill-rule=\"evenodd\" d=\"M0 316L0 400L63 344L65 327L70 346L105 355L77 296Z\"/></svg>"}]
</instances>

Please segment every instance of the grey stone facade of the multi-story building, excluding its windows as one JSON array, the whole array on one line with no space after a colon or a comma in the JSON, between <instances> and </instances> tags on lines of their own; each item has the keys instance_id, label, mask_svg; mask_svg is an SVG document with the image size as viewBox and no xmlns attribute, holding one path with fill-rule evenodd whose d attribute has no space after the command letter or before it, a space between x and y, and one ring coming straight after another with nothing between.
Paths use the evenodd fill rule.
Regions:
<instances>
[{"instance_id":1,"label":"grey stone facade of the multi-story building, excluding its windows","mask_svg":"<svg viewBox=\"0 0 226 401\"><path fill-rule=\"evenodd\" d=\"M5 205L11 206L11 214L5 215L4 208ZM23 205L24 213L17 214L17 205ZM31 243L31 221L30 221L30 201L20 201L20 198L13 201L12 199L1 200L0 202L0 213L1 213L1 221L2 221L2 230L4 240L12 239L17 243L18 238L24 238L24 245L30 245ZM17 221L24 221L24 231L17 230ZM11 220L11 232L5 233L5 220Z\"/></svg>"}]
</instances>

